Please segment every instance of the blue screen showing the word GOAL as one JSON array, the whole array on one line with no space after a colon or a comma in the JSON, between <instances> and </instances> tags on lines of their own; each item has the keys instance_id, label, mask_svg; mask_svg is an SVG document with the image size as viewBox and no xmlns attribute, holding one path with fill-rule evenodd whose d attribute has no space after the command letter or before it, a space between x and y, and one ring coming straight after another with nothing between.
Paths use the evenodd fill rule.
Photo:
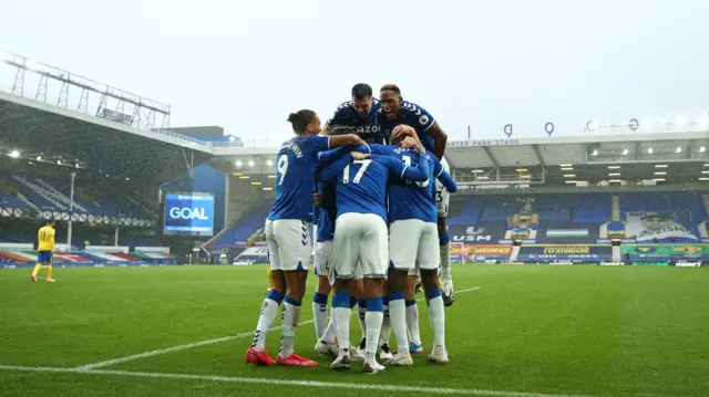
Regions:
<instances>
[{"instance_id":1,"label":"blue screen showing the word GOAL","mask_svg":"<svg viewBox=\"0 0 709 397\"><path fill-rule=\"evenodd\" d=\"M214 196L198 192L165 195L165 234L214 234Z\"/></svg>"}]
</instances>

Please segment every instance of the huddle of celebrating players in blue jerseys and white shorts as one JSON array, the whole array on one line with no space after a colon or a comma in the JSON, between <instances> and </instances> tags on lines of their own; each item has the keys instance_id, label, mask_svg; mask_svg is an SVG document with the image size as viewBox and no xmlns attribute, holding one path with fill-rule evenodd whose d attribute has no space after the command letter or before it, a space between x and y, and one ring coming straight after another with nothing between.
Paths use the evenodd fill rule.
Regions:
<instances>
[{"instance_id":1,"label":"huddle of celebrating players in blue jerseys and white shorts","mask_svg":"<svg viewBox=\"0 0 709 397\"><path fill-rule=\"evenodd\" d=\"M317 365L294 352L315 212L316 351L333 356L335 369L363 361L364 373L382 372L378 351L384 364L413 365L411 354L422 353L414 297L420 278L433 328L427 358L448 363L444 306L453 303L454 293L445 216L456 186L443 158L445 133L425 109L403 101L393 84L381 87L379 101L369 85L354 85L352 100L338 107L323 130L312 111L292 113L288 122L296 136L278 152L276 201L265 227L273 289L246 361ZM274 361L266 335L281 303L281 346ZM351 346L349 337L354 306L363 333L359 346ZM389 349L392 330L395 354Z\"/></svg>"}]
</instances>

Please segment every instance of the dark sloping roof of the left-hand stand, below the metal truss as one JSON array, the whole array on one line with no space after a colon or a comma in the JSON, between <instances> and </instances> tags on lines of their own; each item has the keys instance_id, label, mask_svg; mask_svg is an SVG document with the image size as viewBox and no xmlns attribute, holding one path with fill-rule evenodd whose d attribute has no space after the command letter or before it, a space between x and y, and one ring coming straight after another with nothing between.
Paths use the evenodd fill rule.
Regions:
<instances>
[{"instance_id":1,"label":"dark sloping roof of the left-hand stand, below the metal truss","mask_svg":"<svg viewBox=\"0 0 709 397\"><path fill-rule=\"evenodd\" d=\"M185 136L138 129L0 91L0 149L158 182L212 155Z\"/></svg>"}]
</instances>

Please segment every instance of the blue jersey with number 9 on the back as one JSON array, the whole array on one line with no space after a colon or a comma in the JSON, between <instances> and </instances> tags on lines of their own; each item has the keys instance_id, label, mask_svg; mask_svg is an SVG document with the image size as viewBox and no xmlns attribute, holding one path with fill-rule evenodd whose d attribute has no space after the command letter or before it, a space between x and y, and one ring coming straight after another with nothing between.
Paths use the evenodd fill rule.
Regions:
<instances>
[{"instance_id":1,"label":"blue jersey with number 9 on the back","mask_svg":"<svg viewBox=\"0 0 709 397\"><path fill-rule=\"evenodd\" d=\"M330 137L309 135L284 143L276 156L276 201L269 220L312 219L312 191L318 152L330 147Z\"/></svg>"}]
</instances>

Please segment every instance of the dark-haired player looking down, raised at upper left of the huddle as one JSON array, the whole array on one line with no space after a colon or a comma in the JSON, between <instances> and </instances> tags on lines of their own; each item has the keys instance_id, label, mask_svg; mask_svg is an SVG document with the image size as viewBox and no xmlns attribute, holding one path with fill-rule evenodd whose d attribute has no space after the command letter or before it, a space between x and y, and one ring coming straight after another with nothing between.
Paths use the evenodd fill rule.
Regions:
<instances>
[{"instance_id":1,"label":"dark-haired player looking down, raised at upper left of the huddle","mask_svg":"<svg viewBox=\"0 0 709 397\"><path fill-rule=\"evenodd\" d=\"M352 100L338 106L335 114L325 124L326 130L336 127L352 127L353 133L368 144L382 144L389 142L389 137L382 134L377 115L380 104L373 97L372 87L369 84L359 83L352 87Z\"/></svg>"}]
</instances>

